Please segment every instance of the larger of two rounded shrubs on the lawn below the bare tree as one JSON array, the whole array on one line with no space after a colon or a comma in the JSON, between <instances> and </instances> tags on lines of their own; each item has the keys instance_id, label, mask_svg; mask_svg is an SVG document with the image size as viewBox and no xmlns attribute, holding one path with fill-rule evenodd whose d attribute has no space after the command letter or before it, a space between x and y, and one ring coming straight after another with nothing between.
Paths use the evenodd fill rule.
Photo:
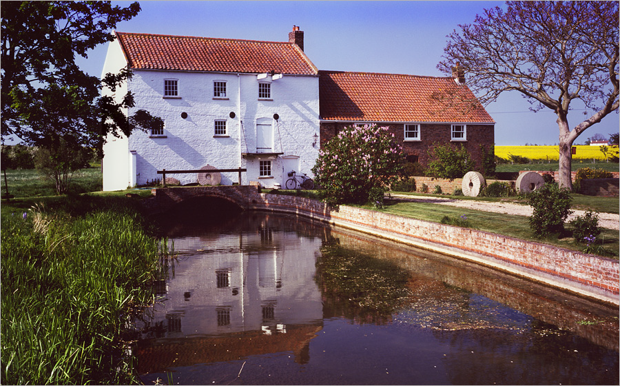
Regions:
<instances>
[{"instance_id":1,"label":"larger of two rounded shrubs on the lawn below the bare tree","mask_svg":"<svg viewBox=\"0 0 620 386\"><path fill-rule=\"evenodd\" d=\"M546 183L530 193L529 203L534 212L530 217L530 229L537 237L560 235L564 232L564 221L571 213L570 191Z\"/></svg>"}]
</instances>

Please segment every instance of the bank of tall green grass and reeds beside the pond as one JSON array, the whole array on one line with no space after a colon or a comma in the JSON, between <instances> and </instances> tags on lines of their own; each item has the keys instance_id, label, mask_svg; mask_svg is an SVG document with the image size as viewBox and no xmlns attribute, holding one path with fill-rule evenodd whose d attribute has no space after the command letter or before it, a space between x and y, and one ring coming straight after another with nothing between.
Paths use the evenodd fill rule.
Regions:
<instances>
[{"instance_id":1,"label":"bank of tall green grass and reeds beside the pond","mask_svg":"<svg viewBox=\"0 0 620 386\"><path fill-rule=\"evenodd\" d=\"M165 254L138 212L118 194L3 203L1 383L138 383L127 323Z\"/></svg>"}]
</instances>

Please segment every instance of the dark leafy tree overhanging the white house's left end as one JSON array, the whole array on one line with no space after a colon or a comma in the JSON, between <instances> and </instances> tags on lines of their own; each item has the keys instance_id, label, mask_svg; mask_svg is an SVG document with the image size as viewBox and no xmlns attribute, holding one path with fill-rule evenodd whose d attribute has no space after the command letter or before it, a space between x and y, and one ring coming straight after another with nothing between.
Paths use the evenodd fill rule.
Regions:
<instances>
[{"instance_id":1,"label":"dark leafy tree overhanging the white house's left end","mask_svg":"<svg viewBox=\"0 0 620 386\"><path fill-rule=\"evenodd\" d=\"M53 150L59 139L101 150L105 136L116 130L162 125L144 110L134 116L132 94L120 103L101 96L114 91L131 72L103 79L83 72L75 57L114 39L110 30L140 10L110 1L7 1L2 4L1 103L2 139L19 137L29 145Z\"/></svg>"}]
</instances>

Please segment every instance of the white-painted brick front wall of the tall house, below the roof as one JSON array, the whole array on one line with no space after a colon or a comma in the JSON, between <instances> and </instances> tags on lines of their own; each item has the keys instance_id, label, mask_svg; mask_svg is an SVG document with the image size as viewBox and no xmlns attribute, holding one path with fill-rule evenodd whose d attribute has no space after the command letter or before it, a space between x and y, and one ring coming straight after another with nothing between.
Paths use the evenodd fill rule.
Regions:
<instances>
[{"instance_id":1,"label":"white-painted brick front wall of the tall house, below the roof","mask_svg":"<svg viewBox=\"0 0 620 386\"><path fill-rule=\"evenodd\" d=\"M178 80L178 99L163 97L164 79ZM214 99L214 81L227 82L227 99ZM271 77L262 81L271 81ZM208 164L218 169L246 167L242 184L260 181L265 187L273 187L276 183L284 185L288 178L282 170L282 155L299 156L298 172L306 173L310 173L318 157L319 141L313 145L313 134L319 135L318 77L285 74L271 81L269 101L258 100L256 74L134 70L129 88L136 102L130 114L145 109L165 121L164 136L135 131L127 148L121 150L136 153L138 185L161 179L157 170L194 170ZM187 113L185 119L183 112ZM231 112L234 118L230 117ZM273 114L278 114L277 121ZM259 118L271 119L273 152L284 154L241 156L241 153L256 153ZM227 122L227 136L214 135L216 120ZM259 179L259 161L268 159L272 163L271 178ZM171 176L181 183L196 182L196 174ZM223 174L223 185L236 182L236 172Z\"/></svg>"}]
</instances>

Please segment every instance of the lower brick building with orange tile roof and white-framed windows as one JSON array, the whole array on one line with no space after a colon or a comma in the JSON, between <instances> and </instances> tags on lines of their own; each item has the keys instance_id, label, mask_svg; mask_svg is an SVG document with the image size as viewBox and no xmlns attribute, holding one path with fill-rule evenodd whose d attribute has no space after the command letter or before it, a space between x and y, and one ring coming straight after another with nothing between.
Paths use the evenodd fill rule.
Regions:
<instances>
[{"instance_id":1,"label":"lower brick building with orange tile roof and white-framed windows","mask_svg":"<svg viewBox=\"0 0 620 386\"><path fill-rule=\"evenodd\" d=\"M321 143L342 128L377 123L395 134L411 162L428 163L435 143L463 144L482 167L481 145L494 144L495 122L454 77L319 71Z\"/></svg>"}]
</instances>

